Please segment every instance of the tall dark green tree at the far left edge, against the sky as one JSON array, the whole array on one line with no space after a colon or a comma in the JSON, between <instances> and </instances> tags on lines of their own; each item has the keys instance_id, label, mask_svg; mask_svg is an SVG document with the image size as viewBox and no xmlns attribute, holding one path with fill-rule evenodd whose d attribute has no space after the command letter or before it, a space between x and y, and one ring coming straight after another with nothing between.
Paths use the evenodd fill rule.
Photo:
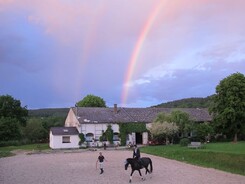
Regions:
<instances>
[{"instance_id":1,"label":"tall dark green tree at the far left edge, against the sky","mask_svg":"<svg viewBox=\"0 0 245 184\"><path fill-rule=\"evenodd\" d=\"M28 111L26 107L21 107L21 102L10 95L0 96L0 117L16 119L22 126L26 124Z\"/></svg>"}]
</instances>

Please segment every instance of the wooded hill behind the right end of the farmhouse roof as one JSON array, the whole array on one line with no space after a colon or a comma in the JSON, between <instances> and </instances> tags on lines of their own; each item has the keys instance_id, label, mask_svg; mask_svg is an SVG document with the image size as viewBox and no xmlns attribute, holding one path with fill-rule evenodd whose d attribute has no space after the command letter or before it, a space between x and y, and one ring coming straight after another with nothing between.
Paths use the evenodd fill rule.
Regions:
<instances>
[{"instance_id":1,"label":"wooded hill behind the right end of the farmhouse roof","mask_svg":"<svg viewBox=\"0 0 245 184\"><path fill-rule=\"evenodd\" d=\"M208 108L211 103L212 96L206 98L185 98L181 100L175 100L172 102L166 102L154 107L165 108Z\"/></svg>"}]
</instances>

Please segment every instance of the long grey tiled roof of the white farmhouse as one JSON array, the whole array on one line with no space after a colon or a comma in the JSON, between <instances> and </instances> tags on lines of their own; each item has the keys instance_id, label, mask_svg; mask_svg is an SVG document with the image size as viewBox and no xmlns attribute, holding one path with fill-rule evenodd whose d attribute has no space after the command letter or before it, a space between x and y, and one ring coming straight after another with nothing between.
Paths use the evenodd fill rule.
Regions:
<instances>
[{"instance_id":1,"label":"long grey tiled roof of the white farmhouse","mask_svg":"<svg viewBox=\"0 0 245 184\"><path fill-rule=\"evenodd\" d=\"M80 123L152 123L159 113L170 114L180 110L189 114L194 121L211 121L207 109L200 108L101 108L101 107L73 107Z\"/></svg>"}]
</instances>

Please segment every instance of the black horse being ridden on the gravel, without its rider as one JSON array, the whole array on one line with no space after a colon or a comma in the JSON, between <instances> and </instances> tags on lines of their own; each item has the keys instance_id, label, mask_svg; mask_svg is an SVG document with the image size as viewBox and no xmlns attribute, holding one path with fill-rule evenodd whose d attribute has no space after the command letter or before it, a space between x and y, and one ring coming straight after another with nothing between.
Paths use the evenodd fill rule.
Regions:
<instances>
[{"instance_id":1,"label":"black horse being ridden on the gravel, without its rider","mask_svg":"<svg viewBox=\"0 0 245 184\"><path fill-rule=\"evenodd\" d=\"M152 171L153 171L152 161L148 157L142 157L142 158L140 158L140 162L137 159L135 159L135 158L128 158L128 159L126 159L126 162L125 162L125 170L128 169L128 165L129 164L131 165L131 168L132 168L132 172L131 172L131 175L130 175L129 183L131 183L131 181L132 181L132 175L133 175L133 173L134 173L135 170L138 170L139 171L139 174L140 174L140 176L141 176L142 179L143 179L143 177L141 175L140 169L145 168L145 174L147 174L147 173L151 174ZM148 169L148 165L150 165L150 170Z\"/></svg>"}]
</instances>

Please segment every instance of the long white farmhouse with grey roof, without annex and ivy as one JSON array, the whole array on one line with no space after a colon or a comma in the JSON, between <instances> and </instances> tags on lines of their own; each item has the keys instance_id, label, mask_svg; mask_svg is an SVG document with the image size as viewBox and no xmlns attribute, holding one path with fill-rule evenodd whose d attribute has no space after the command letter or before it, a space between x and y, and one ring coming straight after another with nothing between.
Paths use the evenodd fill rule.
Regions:
<instances>
[{"instance_id":1,"label":"long white farmhouse with grey roof, without annex and ivy","mask_svg":"<svg viewBox=\"0 0 245 184\"><path fill-rule=\"evenodd\" d=\"M207 109L199 108L70 108L65 120L65 127L76 127L85 135L89 146L102 144L99 138L111 125L114 144L120 144L119 125L125 123L145 124L150 127L159 113L170 114L173 110L181 110L189 114L196 122L211 121ZM126 144L148 144L148 132L132 132L127 135Z\"/></svg>"}]
</instances>

